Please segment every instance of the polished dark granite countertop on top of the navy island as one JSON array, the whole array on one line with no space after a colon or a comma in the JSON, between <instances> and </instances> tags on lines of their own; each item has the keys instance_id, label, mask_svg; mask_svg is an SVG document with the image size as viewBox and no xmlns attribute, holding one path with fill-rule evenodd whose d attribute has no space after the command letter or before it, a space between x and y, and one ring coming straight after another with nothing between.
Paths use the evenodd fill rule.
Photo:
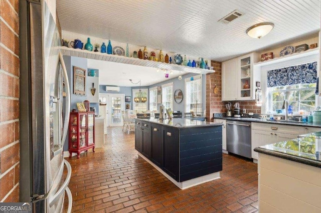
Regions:
<instances>
[{"instance_id":1,"label":"polished dark granite countertop on top of the navy island","mask_svg":"<svg viewBox=\"0 0 321 213\"><path fill-rule=\"evenodd\" d=\"M150 119L141 119L135 118L142 121L157 123L161 125L166 125L175 128L186 128L186 127L204 127L204 126L218 126L222 125L222 123L215 123L209 121L201 121L201 120L192 120L192 119L185 119L185 118L173 118L173 119L164 119L159 120L157 118L150 118Z\"/></svg>"}]
</instances>

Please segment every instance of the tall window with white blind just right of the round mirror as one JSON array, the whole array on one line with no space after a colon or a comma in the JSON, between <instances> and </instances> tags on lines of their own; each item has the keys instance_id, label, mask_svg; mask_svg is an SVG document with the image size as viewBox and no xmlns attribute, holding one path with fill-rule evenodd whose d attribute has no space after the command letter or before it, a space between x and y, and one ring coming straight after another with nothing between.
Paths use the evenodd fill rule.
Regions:
<instances>
[{"instance_id":1,"label":"tall window with white blind just right of the round mirror","mask_svg":"<svg viewBox=\"0 0 321 213\"><path fill-rule=\"evenodd\" d=\"M202 103L202 75L185 78L185 112L190 112L191 103ZM198 108L200 109L200 108ZM194 109L195 110L195 109Z\"/></svg>"}]
</instances>

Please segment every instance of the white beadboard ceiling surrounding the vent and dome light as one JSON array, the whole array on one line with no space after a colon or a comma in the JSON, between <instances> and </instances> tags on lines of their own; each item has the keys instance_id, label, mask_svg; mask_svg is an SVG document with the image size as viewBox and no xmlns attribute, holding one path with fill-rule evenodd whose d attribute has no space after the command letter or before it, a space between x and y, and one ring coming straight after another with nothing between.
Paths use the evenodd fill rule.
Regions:
<instances>
[{"instance_id":1,"label":"white beadboard ceiling surrounding the vent and dome light","mask_svg":"<svg viewBox=\"0 0 321 213\"><path fill-rule=\"evenodd\" d=\"M320 29L321 0L57 0L63 30L166 49L213 60L226 59L300 38ZM238 9L229 24L219 19ZM273 22L261 39L246 29Z\"/></svg>"}]
</instances>

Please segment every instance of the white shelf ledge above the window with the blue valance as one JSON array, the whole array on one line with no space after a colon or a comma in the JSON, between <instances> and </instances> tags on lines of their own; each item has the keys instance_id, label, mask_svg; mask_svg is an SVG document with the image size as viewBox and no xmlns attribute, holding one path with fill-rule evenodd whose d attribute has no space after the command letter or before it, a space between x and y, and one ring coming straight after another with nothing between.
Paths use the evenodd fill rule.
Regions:
<instances>
[{"instance_id":1,"label":"white shelf ledge above the window with the blue valance","mask_svg":"<svg viewBox=\"0 0 321 213\"><path fill-rule=\"evenodd\" d=\"M300 57L314 55L314 54L318 54L318 53L319 53L319 47L316 47L313 49L305 50L303 52L294 52L293 54L285 55L283 57L276 57L276 58L268 59L265 61L260 61L260 62L254 63L254 66L266 66L269 64L279 63L279 62L286 61L286 60L297 59Z\"/></svg>"}]
</instances>

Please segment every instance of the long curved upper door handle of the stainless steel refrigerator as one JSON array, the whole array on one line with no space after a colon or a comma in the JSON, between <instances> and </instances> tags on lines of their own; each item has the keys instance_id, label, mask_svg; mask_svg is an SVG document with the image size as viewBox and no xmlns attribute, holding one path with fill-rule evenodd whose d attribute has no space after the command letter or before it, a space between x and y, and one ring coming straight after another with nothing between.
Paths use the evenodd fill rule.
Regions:
<instances>
[{"instance_id":1,"label":"long curved upper door handle of the stainless steel refrigerator","mask_svg":"<svg viewBox=\"0 0 321 213\"><path fill-rule=\"evenodd\" d=\"M67 131L68 131L69 116L70 116L70 89L69 89L69 80L68 80L66 64L60 51L59 51L59 59L60 59L63 74L64 74L65 89L66 89L66 105L65 105L66 113L65 113L65 120L64 120L62 137L61 137L61 145L64 146L66 136L67 136Z\"/></svg>"}]
</instances>

